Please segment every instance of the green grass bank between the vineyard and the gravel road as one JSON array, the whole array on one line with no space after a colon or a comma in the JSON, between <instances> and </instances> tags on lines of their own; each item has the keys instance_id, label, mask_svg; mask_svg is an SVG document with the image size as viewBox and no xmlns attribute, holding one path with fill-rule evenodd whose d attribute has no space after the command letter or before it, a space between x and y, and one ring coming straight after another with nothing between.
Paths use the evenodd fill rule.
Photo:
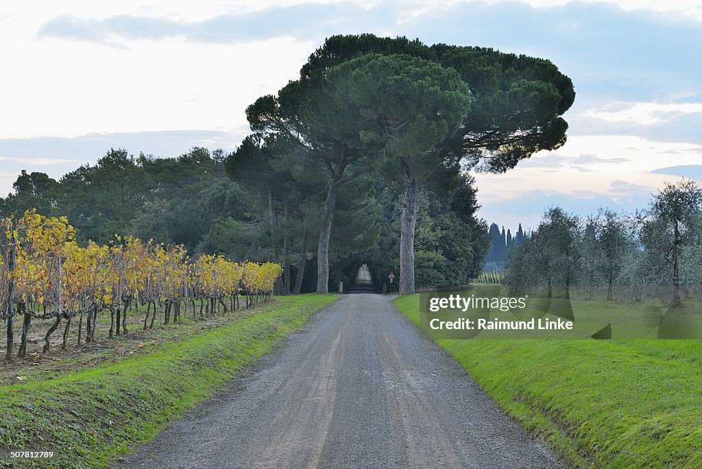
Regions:
<instances>
[{"instance_id":1,"label":"green grass bank between the vineyard and the gravel road","mask_svg":"<svg viewBox=\"0 0 702 469\"><path fill-rule=\"evenodd\" d=\"M2 385L0 467L104 467L152 439L334 300L277 298L249 317L121 361ZM15 450L55 456L9 462L8 451Z\"/></svg>"}]
</instances>

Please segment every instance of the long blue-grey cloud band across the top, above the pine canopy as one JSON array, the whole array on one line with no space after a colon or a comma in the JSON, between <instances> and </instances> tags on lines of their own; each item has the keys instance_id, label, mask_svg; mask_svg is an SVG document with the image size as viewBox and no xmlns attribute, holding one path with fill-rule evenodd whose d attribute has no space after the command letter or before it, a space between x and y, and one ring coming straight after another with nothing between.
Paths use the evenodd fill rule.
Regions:
<instances>
[{"instance_id":1,"label":"long blue-grey cloud band across the top, above the pine canopy","mask_svg":"<svg viewBox=\"0 0 702 469\"><path fill-rule=\"evenodd\" d=\"M331 34L372 32L546 57L574 78L578 93L588 89L609 101L647 102L700 93L696 77L702 75L702 62L690 60L702 56L699 22L651 9L625 11L606 2L560 3L565 4L535 8L521 1L461 1L425 8L381 1L364 8L342 1L270 6L200 21L62 15L44 23L38 35L128 45L169 38L204 44L277 37L321 42Z\"/></svg>"}]
</instances>

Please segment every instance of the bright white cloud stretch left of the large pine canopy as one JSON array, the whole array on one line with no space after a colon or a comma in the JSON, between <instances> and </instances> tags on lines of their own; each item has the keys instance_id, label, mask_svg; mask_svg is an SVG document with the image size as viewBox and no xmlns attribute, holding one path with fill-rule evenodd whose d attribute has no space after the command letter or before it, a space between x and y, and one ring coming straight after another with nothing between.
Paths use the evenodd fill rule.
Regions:
<instances>
[{"instance_id":1,"label":"bright white cloud stretch left of the large pine canopy","mask_svg":"<svg viewBox=\"0 0 702 469\"><path fill-rule=\"evenodd\" d=\"M0 77L3 107L12 110L0 138L238 129L246 106L294 78L313 49L289 38L247 47L133 41L128 51L47 39L5 48L0 60L22 72Z\"/></svg>"}]
</instances>

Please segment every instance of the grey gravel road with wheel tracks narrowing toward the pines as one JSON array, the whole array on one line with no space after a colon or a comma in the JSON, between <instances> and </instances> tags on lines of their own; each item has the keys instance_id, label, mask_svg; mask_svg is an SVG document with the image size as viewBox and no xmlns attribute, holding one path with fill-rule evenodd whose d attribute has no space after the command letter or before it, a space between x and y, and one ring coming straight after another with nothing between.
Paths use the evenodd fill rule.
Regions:
<instances>
[{"instance_id":1,"label":"grey gravel road with wheel tracks narrowing toward the pines","mask_svg":"<svg viewBox=\"0 0 702 469\"><path fill-rule=\"evenodd\" d=\"M112 468L561 468L390 296L349 294Z\"/></svg>"}]
</instances>

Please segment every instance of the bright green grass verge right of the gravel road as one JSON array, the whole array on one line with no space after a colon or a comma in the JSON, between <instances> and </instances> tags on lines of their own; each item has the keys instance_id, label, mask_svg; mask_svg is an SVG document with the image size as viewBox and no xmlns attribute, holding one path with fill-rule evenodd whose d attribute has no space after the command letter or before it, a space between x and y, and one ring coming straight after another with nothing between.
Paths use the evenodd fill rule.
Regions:
<instances>
[{"instance_id":1,"label":"bright green grass verge right of the gravel road","mask_svg":"<svg viewBox=\"0 0 702 469\"><path fill-rule=\"evenodd\" d=\"M395 303L419 326L418 295ZM620 310L621 329L642 307L573 300L576 324L578 317L611 319L612 308ZM702 341L437 343L506 414L575 467L702 467Z\"/></svg>"}]
</instances>

